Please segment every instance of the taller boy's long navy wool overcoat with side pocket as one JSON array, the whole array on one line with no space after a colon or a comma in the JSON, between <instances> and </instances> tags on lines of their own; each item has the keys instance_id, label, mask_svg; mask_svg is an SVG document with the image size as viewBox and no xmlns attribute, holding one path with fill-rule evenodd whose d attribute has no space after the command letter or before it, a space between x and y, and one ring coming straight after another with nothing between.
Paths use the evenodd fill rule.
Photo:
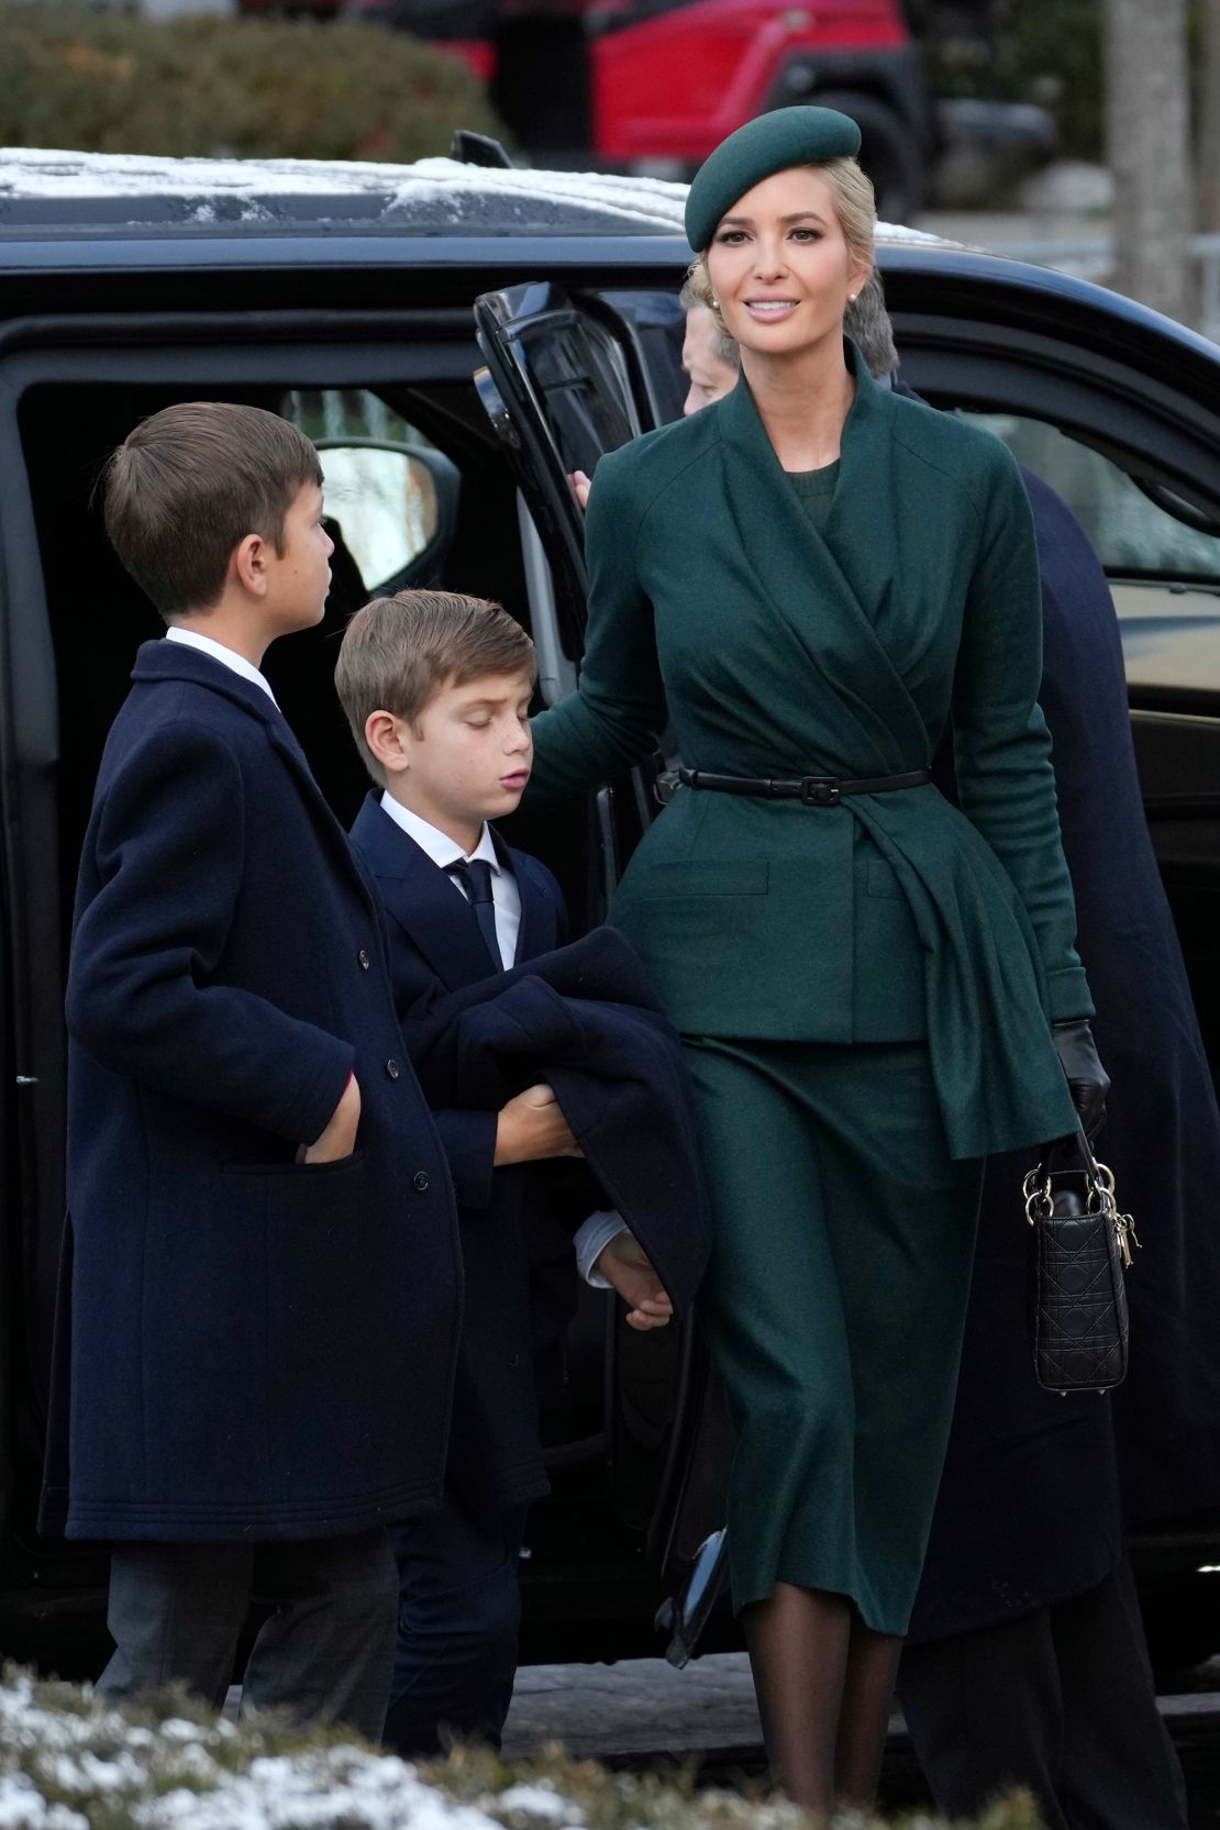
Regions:
<instances>
[{"instance_id":1,"label":"taller boy's long navy wool overcoat with side pocket","mask_svg":"<svg viewBox=\"0 0 1220 1830\"><path fill-rule=\"evenodd\" d=\"M368 1530L439 1501L461 1308L375 895L256 684L174 642L144 644L132 679L68 977L44 1523ZM298 1166L351 1071L355 1153Z\"/></svg>"}]
</instances>

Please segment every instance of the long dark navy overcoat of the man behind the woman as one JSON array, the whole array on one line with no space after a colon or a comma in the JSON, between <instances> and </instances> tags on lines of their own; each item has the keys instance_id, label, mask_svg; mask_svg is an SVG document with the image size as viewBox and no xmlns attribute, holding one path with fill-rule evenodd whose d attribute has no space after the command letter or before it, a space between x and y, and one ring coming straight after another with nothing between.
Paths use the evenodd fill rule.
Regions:
<instances>
[{"instance_id":1,"label":"long dark navy overcoat of the man behind the woman","mask_svg":"<svg viewBox=\"0 0 1220 1830\"><path fill-rule=\"evenodd\" d=\"M1097 1155L1143 1250L1127 1274L1130 1371L1112 1396L1044 1393L1030 1351L1028 1153L988 1168L966 1345L916 1640L1083 1594L1129 1521L1220 1502L1220 1114L1130 743L1114 604L1088 540L1026 472L1043 573L1041 703L1076 886L1077 946L1112 1078Z\"/></svg>"}]
</instances>

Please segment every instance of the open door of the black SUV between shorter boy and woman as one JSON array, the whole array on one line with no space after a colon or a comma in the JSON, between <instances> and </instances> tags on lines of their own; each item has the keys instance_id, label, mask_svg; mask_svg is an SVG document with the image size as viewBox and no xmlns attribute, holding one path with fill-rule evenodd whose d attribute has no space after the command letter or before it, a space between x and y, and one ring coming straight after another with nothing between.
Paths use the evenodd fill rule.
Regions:
<instances>
[{"instance_id":1,"label":"open door of the black SUV between shorter boy and woman","mask_svg":"<svg viewBox=\"0 0 1220 1830\"><path fill-rule=\"evenodd\" d=\"M666 300L673 307L669 295L658 295ZM631 302L638 307L638 295ZM540 280L485 293L474 309L487 362L476 386L518 479L540 690L554 705L574 690L587 615L583 512L569 478L594 476L605 452L657 425L658 390L635 313L600 295L569 295ZM622 866L658 811L664 767L658 754L591 796L589 924L604 919ZM637 1334L620 1305L605 1354L611 1504L646 1537L666 1590L679 1594L699 1543L722 1523L724 1433L719 1405L706 1402L706 1354L693 1327Z\"/></svg>"}]
</instances>

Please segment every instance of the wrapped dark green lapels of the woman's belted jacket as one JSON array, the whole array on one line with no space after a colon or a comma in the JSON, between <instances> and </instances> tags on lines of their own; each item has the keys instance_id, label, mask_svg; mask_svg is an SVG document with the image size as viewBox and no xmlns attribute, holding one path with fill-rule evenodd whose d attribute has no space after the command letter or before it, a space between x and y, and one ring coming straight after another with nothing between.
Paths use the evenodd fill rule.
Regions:
<instances>
[{"instance_id":1,"label":"wrapped dark green lapels of the woman's belted jacket","mask_svg":"<svg viewBox=\"0 0 1220 1830\"><path fill-rule=\"evenodd\" d=\"M724 496L739 547L750 556L774 615L825 688L810 705L810 730L818 734L810 769L861 776L924 765L927 739L878 631L889 593L900 589L885 533L894 516L860 511L860 503L893 496L893 401L876 386L856 346L849 342L847 351L856 401L843 426L840 481L825 536L805 514L744 375L717 412Z\"/></svg>"}]
</instances>

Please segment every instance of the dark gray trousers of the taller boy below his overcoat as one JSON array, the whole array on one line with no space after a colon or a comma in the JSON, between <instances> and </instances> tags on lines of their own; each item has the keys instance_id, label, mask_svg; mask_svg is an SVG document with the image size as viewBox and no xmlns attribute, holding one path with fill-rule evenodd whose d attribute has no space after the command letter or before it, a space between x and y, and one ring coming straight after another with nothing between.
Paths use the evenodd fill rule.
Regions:
<instances>
[{"instance_id":1,"label":"dark gray trousers of the taller boy below his overcoat","mask_svg":"<svg viewBox=\"0 0 1220 1830\"><path fill-rule=\"evenodd\" d=\"M390 1702L399 1574L384 1532L276 1545L115 1545L97 1689L185 1684L219 1709L251 1598L274 1603L241 1680L241 1713L284 1709L379 1740Z\"/></svg>"}]
</instances>

